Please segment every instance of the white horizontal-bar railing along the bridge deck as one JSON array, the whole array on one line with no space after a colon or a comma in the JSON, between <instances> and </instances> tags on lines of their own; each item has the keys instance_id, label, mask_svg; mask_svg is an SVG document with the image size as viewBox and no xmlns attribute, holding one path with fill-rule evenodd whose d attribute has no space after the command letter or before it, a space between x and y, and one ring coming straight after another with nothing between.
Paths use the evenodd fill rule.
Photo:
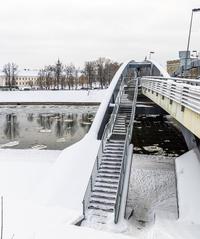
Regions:
<instances>
[{"instance_id":1,"label":"white horizontal-bar railing along the bridge deck","mask_svg":"<svg viewBox=\"0 0 200 239\"><path fill-rule=\"evenodd\" d=\"M142 77L140 85L200 114L200 80Z\"/></svg>"}]
</instances>

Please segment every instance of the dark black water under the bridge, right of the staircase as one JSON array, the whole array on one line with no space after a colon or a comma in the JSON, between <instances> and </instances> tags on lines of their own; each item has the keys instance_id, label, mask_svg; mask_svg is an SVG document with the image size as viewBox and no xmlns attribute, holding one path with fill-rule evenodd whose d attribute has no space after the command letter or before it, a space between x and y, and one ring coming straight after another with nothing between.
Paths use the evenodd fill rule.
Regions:
<instances>
[{"instance_id":1,"label":"dark black water under the bridge, right of the staircase","mask_svg":"<svg viewBox=\"0 0 200 239\"><path fill-rule=\"evenodd\" d=\"M134 153L179 156L187 151L181 132L169 117L136 116Z\"/></svg>"}]
</instances>

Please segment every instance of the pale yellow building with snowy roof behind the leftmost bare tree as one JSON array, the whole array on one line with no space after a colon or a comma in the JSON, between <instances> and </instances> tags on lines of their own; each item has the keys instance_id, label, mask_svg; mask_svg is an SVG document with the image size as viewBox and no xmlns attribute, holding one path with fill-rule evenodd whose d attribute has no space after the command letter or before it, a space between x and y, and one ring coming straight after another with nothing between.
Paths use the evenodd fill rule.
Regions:
<instances>
[{"instance_id":1,"label":"pale yellow building with snowy roof behind the leftmost bare tree","mask_svg":"<svg viewBox=\"0 0 200 239\"><path fill-rule=\"evenodd\" d=\"M24 69L16 74L16 86L19 88L32 88L37 86L38 70ZM5 73L0 71L0 86L6 86Z\"/></svg>"}]
</instances>

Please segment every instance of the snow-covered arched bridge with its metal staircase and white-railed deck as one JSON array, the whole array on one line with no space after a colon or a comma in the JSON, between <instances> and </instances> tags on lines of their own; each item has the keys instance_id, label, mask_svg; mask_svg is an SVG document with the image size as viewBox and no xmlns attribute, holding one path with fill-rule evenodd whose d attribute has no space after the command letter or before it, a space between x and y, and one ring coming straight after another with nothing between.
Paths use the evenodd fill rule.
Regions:
<instances>
[{"instance_id":1,"label":"snow-covered arched bridge with its metal staircase and white-railed deck","mask_svg":"<svg viewBox=\"0 0 200 239\"><path fill-rule=\"evenodd\" d=\"M137 112L151 114L152 109L142 107L139 93L155 102L158 112L180 122L189 149L199 145L200 82L171 78L152 60L125 62L107 89L88 134L63 150L39 188L40 201L59 202L76 210L78 225L117 224L124 219L134 117Z\"/></svg>"}]
</instances>

